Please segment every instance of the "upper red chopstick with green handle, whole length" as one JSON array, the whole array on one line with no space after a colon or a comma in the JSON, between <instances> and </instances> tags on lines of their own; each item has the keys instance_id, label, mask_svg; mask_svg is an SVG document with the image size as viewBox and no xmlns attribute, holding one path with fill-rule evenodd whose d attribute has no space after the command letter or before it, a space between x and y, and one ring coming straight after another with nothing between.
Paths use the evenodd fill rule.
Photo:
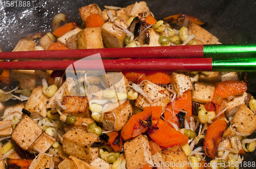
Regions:
<instances>
[{"instance_id":1,"label":"upper red chopstick with green handle, whole length","mask_svg":"<svg viewBox=\"0 0 256 169\"><path fill-rule=\"evenodd\" d=\"M79 60L100 53L102 59L256 57L256 44L215 44L134 48L0 52L1 60Z\"/></svg>"}]
</instances>

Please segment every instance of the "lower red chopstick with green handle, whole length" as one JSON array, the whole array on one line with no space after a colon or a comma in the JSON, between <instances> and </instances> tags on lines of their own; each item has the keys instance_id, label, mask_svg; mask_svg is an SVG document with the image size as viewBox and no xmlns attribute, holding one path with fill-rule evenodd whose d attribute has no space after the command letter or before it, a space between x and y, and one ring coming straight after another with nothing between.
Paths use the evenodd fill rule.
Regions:
<instances>
[{"instance_id":1,"label":"lower red chopstick with green handle, whole length","mask_svg":"<svg viewBox=\"0 0 256 169\"><path fill-rule=\"evenodd\" d=\"M0 69L104 71L256 71L256 58L0 62Z\"/></svg>"}]
</instances>

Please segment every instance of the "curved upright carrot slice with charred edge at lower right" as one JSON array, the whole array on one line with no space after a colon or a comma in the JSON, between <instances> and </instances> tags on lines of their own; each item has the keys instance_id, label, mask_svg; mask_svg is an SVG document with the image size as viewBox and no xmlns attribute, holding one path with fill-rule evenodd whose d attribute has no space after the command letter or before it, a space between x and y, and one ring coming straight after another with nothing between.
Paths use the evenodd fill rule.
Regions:
<instances>
[{"instance_id":1,"label":"curved upright carrot slice with charred edge at lower right","mask_svg":"<svg viewBox=\"0 0 256 169\"><path fill-rule=\"evenodd\" d=\"M207 128L204 138L204 152L212 159L218 151L218 147L226 127L227 123L225 121L217 120Z\"/></svg>"}]
</instances>

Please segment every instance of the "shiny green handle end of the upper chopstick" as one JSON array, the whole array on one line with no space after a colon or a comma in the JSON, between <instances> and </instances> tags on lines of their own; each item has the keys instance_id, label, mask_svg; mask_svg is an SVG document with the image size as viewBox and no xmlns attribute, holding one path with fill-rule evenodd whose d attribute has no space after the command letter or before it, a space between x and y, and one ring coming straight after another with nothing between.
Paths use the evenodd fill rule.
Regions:
<instances>
[{"instance_id":1,"label":"shiny green handle end of the upper chopstick","mask_svg":"<svg viewBox=\"0 0 256 169\"><path fill-rule=\"evenodd\" d=\"M204 58L256 57L256 44L204 45Z\"/></svg>"}]
</instances>

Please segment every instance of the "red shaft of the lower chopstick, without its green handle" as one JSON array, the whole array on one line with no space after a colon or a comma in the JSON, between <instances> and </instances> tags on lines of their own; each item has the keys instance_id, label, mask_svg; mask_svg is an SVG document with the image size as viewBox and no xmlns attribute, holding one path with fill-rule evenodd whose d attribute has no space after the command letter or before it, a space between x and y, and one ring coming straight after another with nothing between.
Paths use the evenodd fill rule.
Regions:
<instances>
[{"instance_id":1,"label":"red shaft of the lower chopstick, without its green handle","mask_svg":"<svg viewBox=\"0 0 256 169\"><path fill-rule=\"evenodd\" d=\"M70 67L69 67L70 66ZM0 62L0 69L105 71L211 71L212 59L134 59Z\"/></svg>"}]
</instances>

